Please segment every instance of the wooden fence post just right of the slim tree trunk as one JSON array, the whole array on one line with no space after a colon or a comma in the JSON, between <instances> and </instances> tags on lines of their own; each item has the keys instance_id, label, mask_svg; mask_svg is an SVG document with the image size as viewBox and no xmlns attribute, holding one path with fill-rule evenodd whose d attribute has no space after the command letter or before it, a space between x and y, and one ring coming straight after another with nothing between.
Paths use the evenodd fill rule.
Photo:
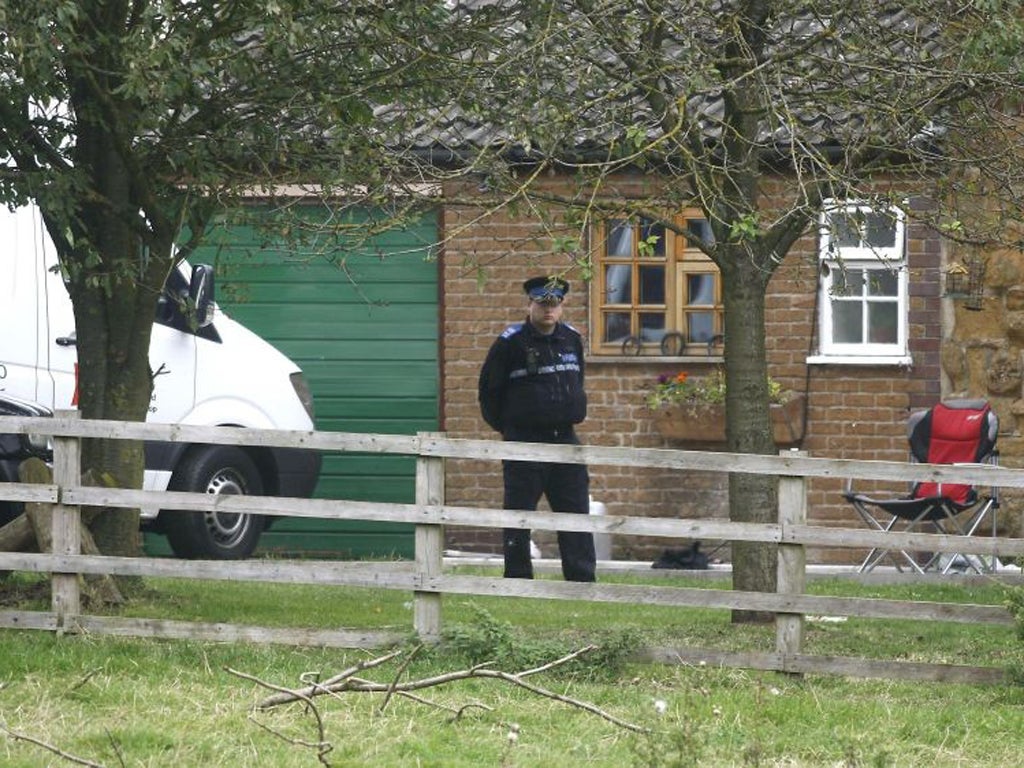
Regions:
<instances>
[{"instance_id":1,"label":"wooden fence post just right of the slim tree trunk","mask_svg":"<svg viewBox=\"0 0 1024 768\"><path fill-rule=\"evenodd\" d=\"M785 456L806 456L803 451L787 451ZM807 523L807 478L783 475L778 481L778 524L783 534L790 525ZM802 544L785 541L778 545L778 594L801 595L807 578L807 552ZM802 613L775 614L775 650L786 656L799 653L804 639Z\"/></svg>"}]
</instances>

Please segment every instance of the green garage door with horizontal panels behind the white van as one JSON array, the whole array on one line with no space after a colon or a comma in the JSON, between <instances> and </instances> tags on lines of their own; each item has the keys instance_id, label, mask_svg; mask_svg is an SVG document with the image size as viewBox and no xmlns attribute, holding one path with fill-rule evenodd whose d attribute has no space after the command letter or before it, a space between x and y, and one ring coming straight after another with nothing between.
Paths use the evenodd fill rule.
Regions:
<instances>
[{"instance_id":1,"label":"green garage door with horizontal panels behind the white van","mask_svg":"<svg viewBox=\"0 0 1024 768\"><path fill-rule=\"evenodd\" d=\"M232 317L305 372L316 429L415 434L438 428L436 213L377 231L381 216L345 214L356 237L316 233L330 212L310 207L300 245L265 229L226 225L190 259L216 266L217 299ZM294 231L294 230L292 230ZM315 496L415 501L408 457L326 454ZM264 553L411 557L413 527L362 521L282 519Z\"/></svg>"}]
</instances>

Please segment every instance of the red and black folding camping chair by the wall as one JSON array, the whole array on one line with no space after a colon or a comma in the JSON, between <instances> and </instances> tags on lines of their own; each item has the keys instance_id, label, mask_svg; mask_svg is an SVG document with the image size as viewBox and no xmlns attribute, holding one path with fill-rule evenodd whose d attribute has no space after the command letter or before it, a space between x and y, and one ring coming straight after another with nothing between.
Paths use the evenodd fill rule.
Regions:
<instances>
[{"instance_id":1,"label":"red and black folding camping chair by the wall","mask_svg":"<svg viewBox=\"0 0 1024 768\"><path fill-rule=\"evenodd\" d=\"M998 463L995 437L998 419L985 400L956 399L940 402L928 411L912 414L907 420L906 433L910 443L910 461L927 464L991 464ZM847 482L844 498L872 528L877 530L912 530L922 524L940 534L974 536L986 517L991 515L992 536L995 536L995 511L999 506L998 489L982 494L971 485L955 483L916 482L908 496L883 499L853 490ZM889 519L886 520L886 517ZM900 526L900 523L903 523ZM970 568L978 573L993 570L996 559L986 562L977 555L933 554L921 565L903 550L876 547L864 558L860 572L871 570L889 555L902 571L907 564L914 571Z\"/></svg>"}]
</instances>

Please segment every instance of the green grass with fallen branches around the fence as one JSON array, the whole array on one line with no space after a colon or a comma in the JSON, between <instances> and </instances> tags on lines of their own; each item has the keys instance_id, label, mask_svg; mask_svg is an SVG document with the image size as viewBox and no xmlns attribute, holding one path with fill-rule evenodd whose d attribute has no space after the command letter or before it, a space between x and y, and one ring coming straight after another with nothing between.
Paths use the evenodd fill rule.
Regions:
<instances>
[{"instance_id":1,"label":"green grass with fallen branches around the fence","mask_svg":"<svg viewBox=\"0 0 1024 768\"><path fill-rule=\"evenodd\" d=\"M24 579L24 578L23 578ZM608 581L708 586L683 578ZM410 596L383 590L146 581L124 614L400 632ZM1001 604L997 586L863 587L813 582L816 594ZM23 607L45 607L28 597ZM444 600L446 642L362 673L388 683L490 658L514 672L589 642L771 650L771 627L728 611L553 600ZM806 649L879 658L1019 665L1013 627L854 620L809 623ZM410 646L411 648L412 646ZM408 649L407 649L408 651ZM269 685L338 673L377 652L0 632L0 723L105 766L313 766L315 719L289 705L255 713ZM408 655L408 653L407 653ZM428 688L431 703L348 692L317 698L334 766L991 766L1024 751L1024 687L797 678L705 666L635 665L614 653L530 678L636 724L635 733L497 680ZM664 702L657 705L656 702ZM452 711L467 705L462 716ZM441 709L447 708L447 709ZM659 712L664 709L664 712ZM509 734L515 726L516 739ZM71 765L0 734L0 765Z\"/></svg>"}]
</instances>

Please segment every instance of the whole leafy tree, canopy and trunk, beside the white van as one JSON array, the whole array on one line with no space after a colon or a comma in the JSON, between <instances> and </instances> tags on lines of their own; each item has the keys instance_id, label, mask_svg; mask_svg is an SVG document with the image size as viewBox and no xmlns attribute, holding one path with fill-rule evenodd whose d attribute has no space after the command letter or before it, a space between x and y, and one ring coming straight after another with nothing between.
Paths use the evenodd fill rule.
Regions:
<instances>
[{"instance_id":1,"label":"whole leafy tree, canopy and trunk, beside the white van","mask_svg":"<svg viewBox=\"0 0 1024 768\"><path fill-rule=\"evenodd\" d=\"M0 0L0 199L37 203L57 250L85 418L144 419L158 296L215 212L400 187L375 104L436 99L457 40L477 44L453 20L420 0ZM87 441L83 465L137 487L141 446ZM137 528L111 512L93 534L131 554Z\"/></svg>"}]
</instances>

